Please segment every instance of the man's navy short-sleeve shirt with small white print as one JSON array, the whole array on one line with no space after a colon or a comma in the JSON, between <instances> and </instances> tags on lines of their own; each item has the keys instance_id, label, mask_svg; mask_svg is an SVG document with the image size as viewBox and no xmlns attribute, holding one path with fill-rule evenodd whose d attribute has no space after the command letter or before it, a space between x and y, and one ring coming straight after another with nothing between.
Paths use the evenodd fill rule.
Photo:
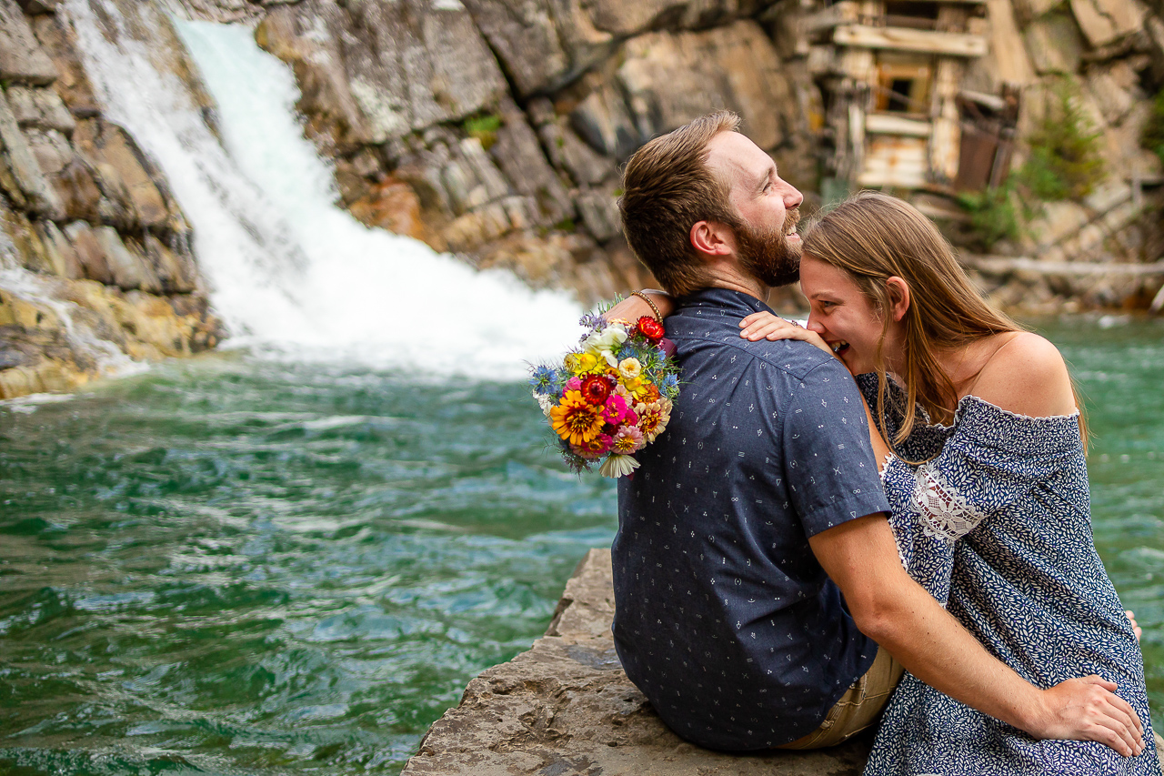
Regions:
<instances>
[{"instance_id":1,"label":"man's navy short-sleeve shirt with small white print","mask_svg":"<svg viewBox=\"0 0 1164 776\"><path fill-rule=\"evenodd\" d=\"M667 318L681 395L619 481L615 642L663 721L700 746L764 749L815 729L873 662L808 544L888 510L857 387L799 341L750 343L768 310L725 289Z\"/></svg>"}]
</instances>

